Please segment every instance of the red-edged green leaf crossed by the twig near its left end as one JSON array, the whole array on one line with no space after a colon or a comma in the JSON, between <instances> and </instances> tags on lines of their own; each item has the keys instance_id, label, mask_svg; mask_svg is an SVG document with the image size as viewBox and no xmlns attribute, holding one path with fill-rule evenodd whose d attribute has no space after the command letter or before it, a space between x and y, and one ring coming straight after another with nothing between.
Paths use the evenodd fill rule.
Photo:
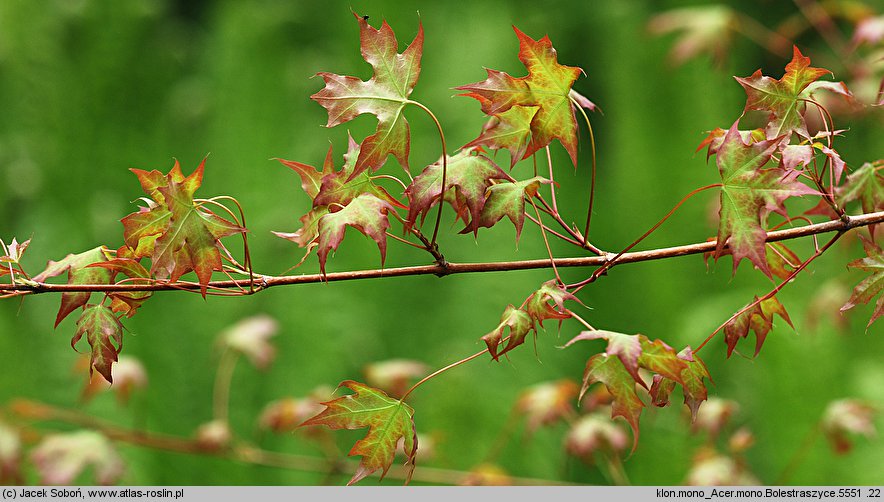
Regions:
<instances>
[{"instance_id":1,"label":"red-edged green leaf crossed by the twig near its left end","mask_svg":"<svg viewBox=\"0 0 884 502\"><path fill-rule=\"evenodd\" d=\"M68 284L110 284L113 279L113 273L110 270L89 267L93 263L107 261L107 253L108 249L106 247L99 246L83 253L69 254L59 261L50 261L46 265L46 270L34 276L34 280L44 282L50 277L67 272ZM58 326L71 312L89 303L91 296L92 293L89 292L62 293L61 307L58 309L58 315L55 317L55 326Z\"/></svg>"}]
</instances>

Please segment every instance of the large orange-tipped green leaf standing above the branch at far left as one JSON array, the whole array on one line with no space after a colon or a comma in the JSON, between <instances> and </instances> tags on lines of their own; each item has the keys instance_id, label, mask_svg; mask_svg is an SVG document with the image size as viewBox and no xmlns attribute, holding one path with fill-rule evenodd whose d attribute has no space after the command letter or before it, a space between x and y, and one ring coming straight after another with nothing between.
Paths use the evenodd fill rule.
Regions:
<instances>
[{"instance_id":1,"label":"large orange-tipped green leaf standing above the branch at far left","mask_svg":"<svg viewBox=\"0 0 884 502\"><path fill-rule=\"evenodd\" d=\"M205 159L184 177L178 161L163 177L159 171L133 169L142 188L155 204L122 219L126 245L135 258L149 256L151 274L177 281L193 271L205 296L213 271L222 270L219 239L244 233L245 228L194 202L194 192L203 180Z\"/></svg>"}]
</instances>

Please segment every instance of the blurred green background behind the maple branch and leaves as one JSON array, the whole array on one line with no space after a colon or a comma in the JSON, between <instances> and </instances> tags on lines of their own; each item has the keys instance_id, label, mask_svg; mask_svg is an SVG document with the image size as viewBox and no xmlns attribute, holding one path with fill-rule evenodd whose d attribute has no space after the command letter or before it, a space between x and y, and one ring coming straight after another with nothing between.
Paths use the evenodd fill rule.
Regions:
<instances>
[{"instance_id":1,"label":"blurred green background behind the maple branch and leaves","mask_svg":"<svg viewBox=\"0 0 884 502\"><path fill-rule=\"evenodd\" d=\"M762 21L796 11L789 2L738 4L748 14L769 16ZM413 98L434 110L455 147L473 139L484 118L474 100L452 97L452 88L484 79L483 66L524 74L511 25L535 38L548 33L559 60L588 75L575 88L604 110L592 116L599 178L591 237L610 250L631 242L690 190L718 181L714 165L694 149L704 131L727 127L739 116L745 95L732 75L761 67L779 77L787 62L737 38L718 68L706 56L676 67L667 60L673 37L655 38L646 25L653 14L684 2L5 0L0 2L0 236L33 238L24 260L31 273L69 252L99 244L116 248L122 242L118 220L134 210L132 201L142 195L128 168L165 172L174 157L190 172L209 154L199 194L237 197L247 212L255 268L284 272L301 251L270 231L296 229L309 200L295 173L269 159L319 165L329 141L339 159L348 128L361 139L375 126L374 119L360 117L325 129L325 110L309 99L322 87L310 78L317 71L370 76L359 55L350 5L370 15L375 26L386 19L400 50L413 38L418 20L423 23L423 68ZM837 57L812 31L799 43L815 66L839 68ZM432 122L417 110L409 112L410 158L417 169L438 158L438 139ZM839 128L850 128L837 145L851 167L884 154L880 112L877 118L836 120ZM582 225L589 148L581 130L576 172L563 149L556 145L553 151L559 206ZM501 163L507 162L505 155ZM398 174L397 169L391 160L387 172ZM515 175L524 178L530 162L516 169ZM714 198L710 192L692 200L642 246L714 235ZM458 235L460 227L451 218L446 211L440 238L449 260L545 256L530 223L516 246L509 223L483 229L476 241ZM417 250L393 241L389 246L388 266L428 262ZM795 249L807 256L811 244L796 243ZM566 245L554 244L554 251L577 255ZM780 295L796 329L778 321L758 358L735 355L726 361L720 337L703 353L715 379L711 393L736 400L735 425L746 425L756 436L748 466L764 483L777 479L828 402L856 397L884 403L884 330L881 322L864 329L870 308L856 309L840 330L826 315L815 328L807 320L811 310L822 309L814 307L813 299L823 285L837 291L837 284L843 289L860 279L844 267L860 254L856 242L845 239ZM328 270L377 265L376 246L351 230ZM299 271L317 269L311 257ZM729 258L707 270L698 256L623 266L582 293L591 307L583 314L596 327L641 332L675 347L696 346L753 295L771 288L745 263L737 277L730 269ZM568 269L562 275L578 280L588 272ZM435 368L480 350L479 337L497 324L504 307L518 305L551 277L542 270L368 280L208 300L159 293L126 322L123 354L141 359L150 378L149 387L128 407L110 395L79 402L84 373L72 369L78 356L68 343L75 316L53 331L57 296L6 300L0 302L0 403L28 397L78 407L123 425L190 436L211 418L217 334L244 317L266 313L281 324L274 339L277 360L263 372L240 365L231 395L234 431L249 438L267 402L307 395L317 385L362 379L362 368L370 362L409 358ZM536 354L529 342L509 361L474 361L414 394L418 430L438 439L436 457L425 465L471 469L485 458L526 386L579 380L587 357L602 347L587 343L558 350L579 327L566 323L557 334L548 324ZM744 341L741 350L750 353L751 343ZM645 411L639 448L625 461L633 483L685 480L703 439L690 433L681 408ZM604 483L598 470L565 455L564 432L561 424L532 436L518 428L498 463L516 476ZM336 435L345 449L354 437ZM260 444L320 454L295 435L264 436ZM120 448L128 465L126 484L323 480L321 474ZM790 482L881 484L881 465L880 439L860 440L851 453L837 457L820 440ZM341 476L334 482L344 481Z\"/></svg>"}]
</instances>

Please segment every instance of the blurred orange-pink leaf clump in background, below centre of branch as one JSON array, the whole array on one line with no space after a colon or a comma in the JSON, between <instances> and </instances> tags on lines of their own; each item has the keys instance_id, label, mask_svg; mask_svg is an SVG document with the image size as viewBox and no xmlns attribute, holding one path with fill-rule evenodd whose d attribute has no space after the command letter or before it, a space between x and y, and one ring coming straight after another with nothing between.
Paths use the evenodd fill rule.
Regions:
<instances>
[{"instance_id":1,"label":"blurred orange-pink leaf clump in background, below centre of branch","mask_svg":"<svg viewBox=\"0 0 884 502\"><path fill-rule=\"evenodd\" d=\"M528 432L572 417L573 401L580 387L573 380L544 382L525 389L516 402L516 411L525 416Z\"/></svg>"}]
</instances>

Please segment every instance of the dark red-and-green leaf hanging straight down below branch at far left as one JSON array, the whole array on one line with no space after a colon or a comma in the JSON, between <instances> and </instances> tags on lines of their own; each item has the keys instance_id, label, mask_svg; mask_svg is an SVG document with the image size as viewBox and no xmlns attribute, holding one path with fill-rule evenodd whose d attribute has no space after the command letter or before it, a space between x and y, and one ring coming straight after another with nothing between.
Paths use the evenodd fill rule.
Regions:
<instances>
[{"instance_id":1,"label":"dark red-and-green leaf hanging straight down below branch at far left","mask_svg":"<svg viewBox=\"0 0 884 502\"><path fill-rule=\"evenodd\" d=\"M123 325L113 311L103 305L91 305L77 319L77 332L71 339L71 347L77 349L77 342L83 336L92 348L89 374L93 368L105 380L114 383L111 366L117 362L123 350Z\"/></svg>"}]
</instances>

